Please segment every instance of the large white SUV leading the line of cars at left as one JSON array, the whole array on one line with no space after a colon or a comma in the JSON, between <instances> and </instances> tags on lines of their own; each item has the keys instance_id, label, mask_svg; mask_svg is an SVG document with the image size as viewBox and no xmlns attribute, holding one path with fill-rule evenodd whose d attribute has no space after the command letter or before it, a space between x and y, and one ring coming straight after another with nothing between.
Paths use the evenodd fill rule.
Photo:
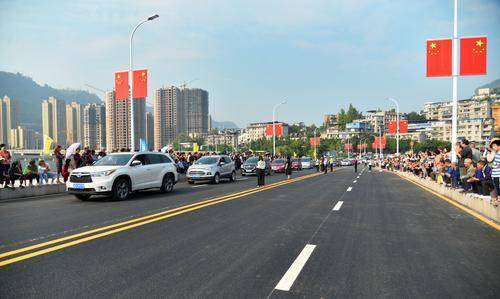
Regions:
<instances>
[{"instance_id":1,"label":"large white SUV leading the line of cars at left","mask_svg":"<svg viewBox=\"0 0 500 299\"><path fill-rule=\"evenodd\" d=\"M87 200L91 195L111 195L125 200L132 191L160 188L169 193L179 175L172 159L163 153L114 153L92 166L73 170L66 183L69 193Z\"/></svg>"}]
</instances>

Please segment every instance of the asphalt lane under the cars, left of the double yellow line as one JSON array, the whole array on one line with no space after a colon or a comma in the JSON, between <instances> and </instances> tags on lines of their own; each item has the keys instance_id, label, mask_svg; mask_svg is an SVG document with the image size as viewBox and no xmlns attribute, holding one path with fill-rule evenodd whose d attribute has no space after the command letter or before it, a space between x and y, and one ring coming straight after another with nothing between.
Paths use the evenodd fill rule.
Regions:
<instances>
[{"instance_id":1,"label":"asphalt lane under the cars, left of the double yellow line","mask_svg":"<svg viewBox=\"0 0 500 299\"><path fill-rule=\"evenodd\" d=\"M301 171L294 173L294 177L310 173L312 171ZM257 182L256 177L245 177L244 180L238 177L238 179L236 183L222 181L218 185L207 184L195 188L183 182L176 185L174 192L170 194L148 190L135 193L130 199L120 202L102 197L80 201L72 195L58 196L56 199L43 197L39 200L0 202L2 212L0 250L7 251L34 242L239 192L255 187ZM285 179L284 174L274 174L267 176L266 182L271 184Z\"/></svg>"}]
</instances>

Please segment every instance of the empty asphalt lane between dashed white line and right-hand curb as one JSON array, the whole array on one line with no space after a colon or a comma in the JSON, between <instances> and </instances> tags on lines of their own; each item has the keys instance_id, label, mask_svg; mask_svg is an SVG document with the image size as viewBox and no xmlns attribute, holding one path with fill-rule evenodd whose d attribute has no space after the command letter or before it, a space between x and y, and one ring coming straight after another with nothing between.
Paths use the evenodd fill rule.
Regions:
<instances>
[{"instance_id":1,"label":"empty asphalt lane between dashed white line and right-hand curb","mask_svg":"<svg viewBox=\"0 0 500 299\"><path fill-rule=\"evenodd\" d=\"M471 298L500 294L500 235L394 174L365 172L276 298Z\"/></svg>"}]
</instances>

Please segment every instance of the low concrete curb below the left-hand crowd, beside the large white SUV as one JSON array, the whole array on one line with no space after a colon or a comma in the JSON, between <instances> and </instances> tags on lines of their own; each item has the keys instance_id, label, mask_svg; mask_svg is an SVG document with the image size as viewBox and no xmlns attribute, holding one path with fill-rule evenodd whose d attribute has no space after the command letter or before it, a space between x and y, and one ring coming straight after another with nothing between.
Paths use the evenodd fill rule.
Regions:
<instances>
[{"instance_id":1,"label":"low concrete curb below the left-hand crowd, beside the large white SUV","mask_svg":"<svg viewBox=\"0 0 500 299\"><path fill-rule=\"evenodd\" d=\"M178 183L186 182L186 176L179 174ZM66 192L66 184L48 184L36 185L26 188L16 187L14 190L10 188L0 189L0 201L7 199L31 198L37 196L62 194Z\"/></svg>"}]
</instances>

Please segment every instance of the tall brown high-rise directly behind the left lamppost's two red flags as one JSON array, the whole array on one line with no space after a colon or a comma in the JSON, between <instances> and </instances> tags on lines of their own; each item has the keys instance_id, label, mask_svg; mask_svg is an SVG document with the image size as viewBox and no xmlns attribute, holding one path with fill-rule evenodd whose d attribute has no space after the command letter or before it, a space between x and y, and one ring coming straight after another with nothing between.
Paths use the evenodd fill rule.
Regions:
<instances>
[{"instance_id":1,"label":"tall brown high-rise directly behind the left lamppost's two red flags","mask_svg":"<svg viewBox=\"0 0 500 299\"><path fill-rule=\"evenodd\" d=\"M106 147L108 151L131 149L130 101L115 100L115 92L106 92ZM146 136L146 99L134 99L135 146Z\"/></svg>"}]
</instances>

